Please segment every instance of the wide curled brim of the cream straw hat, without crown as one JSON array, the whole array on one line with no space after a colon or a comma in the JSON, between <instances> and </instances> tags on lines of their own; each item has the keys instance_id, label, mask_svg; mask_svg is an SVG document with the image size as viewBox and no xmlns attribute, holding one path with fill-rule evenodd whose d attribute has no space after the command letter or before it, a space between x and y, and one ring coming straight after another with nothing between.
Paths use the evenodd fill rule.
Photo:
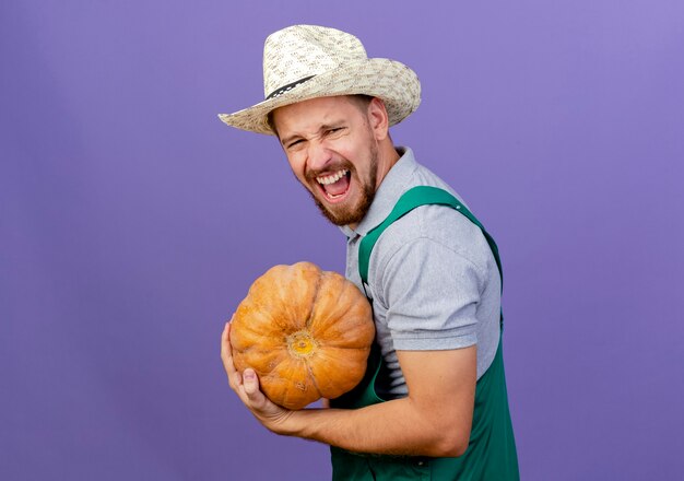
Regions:
<instances>
[{"instance_id":1,"label":"wide curled brim of the cream straw hat, without crown","mask_svg":"<svg viewBox=\"0 0 684 481\"><path fill-rule=\"evenodd\" d=\"M285 105L317 97L364 94L385 102L390 126L399 124L421 104L421 82L401 62L370 58L317 74L286 93L234 114L219 114L226 125L257 133L274 134L268 115Z\"/></svg>"}]
</instances>

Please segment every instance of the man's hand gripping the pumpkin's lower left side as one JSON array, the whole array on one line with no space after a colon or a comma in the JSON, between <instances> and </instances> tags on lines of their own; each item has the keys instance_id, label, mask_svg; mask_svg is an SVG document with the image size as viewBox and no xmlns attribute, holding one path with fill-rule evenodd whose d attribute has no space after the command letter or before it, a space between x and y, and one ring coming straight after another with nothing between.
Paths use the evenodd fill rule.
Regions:
<instances>
[{"instance_id":1,"label":"man's hand gripping the pumpkin's lower left side","mask_svg":"<svg viewBox=\"0 0 684 481\"><path fill-rule=\"evenodd\" d=\"M233 319L231 319L233 320ZM288 411L273 403L259 389L259 377L252 368L246 368L239 373L233 364L233 351L231 348L231 322L226 322L221 336L221 359L228 376L228 384L243 403L268 430L284 434L284 423L291 417Z\"/></svg>"}]
</instances>

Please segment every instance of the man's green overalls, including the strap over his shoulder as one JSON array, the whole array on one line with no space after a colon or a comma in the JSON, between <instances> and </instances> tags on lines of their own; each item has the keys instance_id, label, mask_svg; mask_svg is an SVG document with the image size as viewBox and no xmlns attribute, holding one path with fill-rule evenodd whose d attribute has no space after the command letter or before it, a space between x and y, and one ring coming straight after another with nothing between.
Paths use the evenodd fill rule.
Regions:
<instances>
[{"instance_id":1,"label":"man's green overalls, including the strap over his shoulder","mask_svg":"<svg viewBox=\"0 0 684 481\"><path fill-rule=\"evenodd\" d=\"M358 268L365 284L368 283L370 253L382 231L416 207L425 204L451 207L480 227L492 249L500 274L502 263L496 243L475 216L446 190L418 186L401 196L389 216L361 241ZM499 322L503 329L503 313ZM378 481L400 479L520 481L515 436L508 409L502 339L503 337L499 337L498 348L492 364L475 385L475 403L469 447L462 456L457 458L393 457L351 453L331 446L332 479L334 481L367 481L370 479ZM364 379L352 391L338 399L332 399L331 406L357 409L382 402L384 399L375 390L376 377L382 365L384 360L379 347L374 343Z\"/></svg>"}]
</instances>

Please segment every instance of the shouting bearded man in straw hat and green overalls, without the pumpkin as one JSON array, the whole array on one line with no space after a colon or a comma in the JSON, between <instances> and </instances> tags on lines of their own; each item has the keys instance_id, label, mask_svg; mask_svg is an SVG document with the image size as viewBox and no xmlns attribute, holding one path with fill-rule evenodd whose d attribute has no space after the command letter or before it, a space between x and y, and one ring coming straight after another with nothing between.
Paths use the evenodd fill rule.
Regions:
<instances>
[{"instance_id":1,"label":"shouting bearded man in straw hat and green overalls, without the pumpkin","mask_svg":"<svg viewBox=\"0 0 684 481\"><path fill-rule=\"evenodd\" d=\"M297 179L347 237L346 277L374 309L377 356L330 409L287 411L236 372L269 430L327 443L333 479L517 480L500 349L496 245L389 127L420 104L408 67L369 59L346 33L296 25L264 46L267 99L221 119L275 134ZM401 200L400 200L401 199Z\"/></svg>"}]
</instances>

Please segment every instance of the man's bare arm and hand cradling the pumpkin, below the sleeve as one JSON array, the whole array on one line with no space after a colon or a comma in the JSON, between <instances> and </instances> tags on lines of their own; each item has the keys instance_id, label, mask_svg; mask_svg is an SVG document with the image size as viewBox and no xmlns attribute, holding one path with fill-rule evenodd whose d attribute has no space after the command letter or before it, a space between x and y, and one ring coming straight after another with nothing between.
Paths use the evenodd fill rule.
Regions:
<instances>
[{"instance_id":1,"label":"man's bare arm and hand cradling the pumpkin, below the sleeve","mask_svg":"<svg viewBox=\"0 0 684 481\"><path fill-rule=\"evenodd\" d=\"M406 398L357 410L288 411L260 390L252 369L240 375L233 365L229 325L222 337L222 359L231 387L252 414L278 434L315 439L361 453L459 456L472 424L476 348L447 351L398 351Z\"/></svg>"}]
</instances>

